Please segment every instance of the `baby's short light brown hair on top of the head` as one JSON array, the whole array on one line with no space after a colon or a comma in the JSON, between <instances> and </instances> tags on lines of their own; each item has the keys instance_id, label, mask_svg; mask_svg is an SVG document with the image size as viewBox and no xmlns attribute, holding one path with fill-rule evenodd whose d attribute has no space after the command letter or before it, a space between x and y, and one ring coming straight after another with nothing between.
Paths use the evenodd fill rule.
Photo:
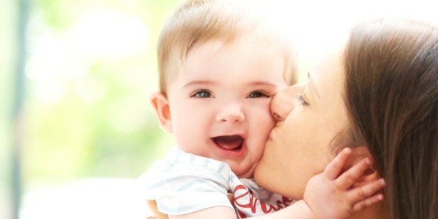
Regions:
<instances>
[{"instance_id":1,"label":"baby's short light brown hair on top of the head","mask_svg":"<svg viewBox=\"0 0 438 219\"><path fill-rule=\"evenodd\" d=\"M262 16L256 16L236 0L186 1L169 17L160 33L160 91L166 94L167 85L176 77L179 68L195 47L208 40L222 40L225 45L229 45L244 34L266 38L266 43L278 47L286 63L285 81L294 84L296 54L292 50L292 43L273 30Z\"/></svg>"}]
</instances>

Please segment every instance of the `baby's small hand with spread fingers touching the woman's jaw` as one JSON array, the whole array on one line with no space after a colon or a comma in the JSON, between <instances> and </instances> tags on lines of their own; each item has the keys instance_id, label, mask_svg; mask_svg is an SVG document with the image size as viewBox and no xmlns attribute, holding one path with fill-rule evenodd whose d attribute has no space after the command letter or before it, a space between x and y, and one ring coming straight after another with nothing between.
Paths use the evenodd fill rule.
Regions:
<instances>
[{"instance_id":1,"label":"baby's small hand with spread fingers touching the woman's jaw","mask_svg":"<svg viewBox=\"0 0 438 219\"><path fill-rule=\"evenodd\" d=\"M351 149L343 149L322 174L309 180L303 201L316 218L348 218L383 200L382 194L376 194L385 186L383 179L375 179L363 186L352 188L370 167L369 158L364 158L340 174L351 153Z\"/></svg>"}]
</instances>

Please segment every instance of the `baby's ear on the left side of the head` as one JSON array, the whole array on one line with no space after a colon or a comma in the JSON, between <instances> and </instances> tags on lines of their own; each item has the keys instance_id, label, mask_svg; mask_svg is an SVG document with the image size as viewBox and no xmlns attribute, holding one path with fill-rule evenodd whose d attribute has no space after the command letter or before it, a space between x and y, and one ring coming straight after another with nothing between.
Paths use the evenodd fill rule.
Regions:
<instances>
[{"instance_id":1,"label":"baby's ear on the left side of the head","mask_svg":"<svg viewBox=\"0 0 438 219\"><path fill-rule=\"evenodd\" d=\"M150 99L158 123L160 123L160 127L167 133L172 133L172 118L170 117L169 100L167 100L166 96L160 92L152 93Z\"/></svg>"}]
</instances>

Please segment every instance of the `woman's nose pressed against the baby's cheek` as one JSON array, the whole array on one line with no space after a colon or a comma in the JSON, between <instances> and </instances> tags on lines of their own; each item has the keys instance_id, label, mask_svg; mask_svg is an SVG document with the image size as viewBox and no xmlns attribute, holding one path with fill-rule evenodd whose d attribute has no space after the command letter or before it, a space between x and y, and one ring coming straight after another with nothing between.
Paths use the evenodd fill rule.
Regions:
<instances>
[{"instance_id":1,"label":"woman's nose pressed against the baby's cheek","mask_svg":"<svg viewBox=\"0 0 438 219\"><path fill-rule=\"evenodd\" d=\"M288 86L286 89L275 94L271 100L271 114L276 121L283 121L287 115L294 110L296 104L296 96L299 95L299 91L302 86L296 84L294 86Z\"/></svg>"}]
</instances>

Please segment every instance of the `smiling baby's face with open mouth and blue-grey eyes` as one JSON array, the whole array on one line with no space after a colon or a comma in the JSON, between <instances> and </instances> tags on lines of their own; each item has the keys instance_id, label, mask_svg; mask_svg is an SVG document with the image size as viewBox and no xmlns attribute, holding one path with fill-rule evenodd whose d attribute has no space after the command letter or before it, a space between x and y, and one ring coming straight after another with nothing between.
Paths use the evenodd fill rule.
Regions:
<instances>
[{"instance_id":1,"label":"smiling baby's face with open mouth and blue-grey eyes","mask_svg":"<svg viewBox=\"0 0 438 219\"><path fill-rule=\"evenodd\" d=\"M181 149L252 177L275 125L271 98L287 86L284 68L278 52L257 38L231 45L210 40L195 48L167 92Z\"/></svg>"}]
</instances>

